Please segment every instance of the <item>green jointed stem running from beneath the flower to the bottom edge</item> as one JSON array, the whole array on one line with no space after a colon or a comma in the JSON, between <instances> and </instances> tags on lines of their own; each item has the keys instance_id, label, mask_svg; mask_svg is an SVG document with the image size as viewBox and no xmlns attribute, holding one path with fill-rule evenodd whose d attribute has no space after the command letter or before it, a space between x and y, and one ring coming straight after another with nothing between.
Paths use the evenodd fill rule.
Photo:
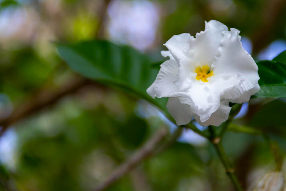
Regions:
<instances>
[{"instance_id":1,"label":"green jointed stem running from beneath the flower to the bottom edge","mask_svg":"<svg viewBox=\"0 0 286 191\"><path fill-rule=\"evenodd\" d=\"M229 124L229 123L228 123ZM227 173L227 176L231 179L231 182L233 183L235 189L237 191L242 191L242 187L237 179L237 176L235 175L235 169L233 168L229 158L227 157L227 154L225 153L225 149L223 148L223 144L221 142L222 137L216 137L215 130L213 129L211 125L208 126L208 130L210 132L210 142L212 145L214 145L217 154L219 155L219 158L221 159L221 162L223 163L223 166L225 167L225 171ZM227 127L225 128L227 129ZM222 133L220 133L221 135ZM222 134L223 135L223 134Z\"/></svg>"}]
</instances>

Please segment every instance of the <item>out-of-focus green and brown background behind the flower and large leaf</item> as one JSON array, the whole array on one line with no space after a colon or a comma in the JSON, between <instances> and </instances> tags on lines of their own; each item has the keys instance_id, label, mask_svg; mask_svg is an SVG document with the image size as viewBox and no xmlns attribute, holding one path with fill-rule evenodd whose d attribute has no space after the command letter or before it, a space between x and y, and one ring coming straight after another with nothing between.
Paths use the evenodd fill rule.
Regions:
<instances>
[{"instance_id":1,"label":"out-of-focus green and brown background behind the flower and large leaf","mask_svg":"<svg viewBox=\"0 0 286 191\"><path fill-rule=\"evenodd\" d=\"M159 61L170 37L211 19L241 30L255 60L286 50L285 0L0 0L0 189L92 190L158 129L176 129L146 101L73 72L55 42L107 39ZM234 123L262 129L284 156L285 114L283 99L253 99ZM275 169L262 135L227 132L223 144L246 189ZM212 145L184 130L107 190L233 189Z\"/></svg>"}]
</instances>

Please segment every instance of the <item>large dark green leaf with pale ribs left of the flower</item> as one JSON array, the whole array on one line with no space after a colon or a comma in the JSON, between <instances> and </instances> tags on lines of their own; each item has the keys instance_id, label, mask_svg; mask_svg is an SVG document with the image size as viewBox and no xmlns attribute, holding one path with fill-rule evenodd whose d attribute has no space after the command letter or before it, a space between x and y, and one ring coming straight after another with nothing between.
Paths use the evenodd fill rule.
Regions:
<instances>
[{"instance_id":1,"label":"large dark green leaf with pale ribs left of the flower","mask_svg":"<svg viewBox=\"0 0 286 191\"><path fill-rule=\"evenodd\" d=\"M63 60L83 76L119 87L167 111L167 99L153 99L146 92L158 69L150 67L149 58L135 49L108 41L88 41L57 44L57 50Z\"/></svg>"}]
</instances>

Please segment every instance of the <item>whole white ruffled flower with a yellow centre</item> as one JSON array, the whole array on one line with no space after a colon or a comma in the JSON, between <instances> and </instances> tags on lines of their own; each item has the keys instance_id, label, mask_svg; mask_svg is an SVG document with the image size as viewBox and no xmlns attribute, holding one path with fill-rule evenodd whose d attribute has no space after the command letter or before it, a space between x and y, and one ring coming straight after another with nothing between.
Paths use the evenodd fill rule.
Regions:
<instances>
[{"instance_id":1,"label":"whole white ruffled flower with a yellow centre","mask_svg":"<svg viewBox=\"0 0 286 191\"><path fill-rule=\"evenodd\" d=\"M196 34L174 35L164 45L155 82L147 89L153 98L169 97L167 109L177 125L192 118L202 126L219 126L229 117L229 102L248 102L259 91L258 67L243 49L239 30L219 21L205 22Z\"/></svg>"}]
</instances>

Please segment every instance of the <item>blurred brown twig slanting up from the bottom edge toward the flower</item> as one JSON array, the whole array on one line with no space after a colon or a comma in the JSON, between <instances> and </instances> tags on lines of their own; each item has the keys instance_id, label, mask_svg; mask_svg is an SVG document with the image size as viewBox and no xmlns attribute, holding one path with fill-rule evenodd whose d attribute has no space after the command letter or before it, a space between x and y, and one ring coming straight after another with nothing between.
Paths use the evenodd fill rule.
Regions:
<instances>
[{"instance_id":1,"label":"blurred brown twig slanting up from the bottom edge toward the flower","mask_svg":"<svg viewBox=\"0 0 286 191\"><path fill-rule=\"evenodd\" d=\"M166 128L161 128L158 133L156 133L147 143L144 144L132 157L130 157L126 162L121 164L104 182L102 182L95 191L100 191L106 189L116 180L124 176L127 172L136 167L140 162L152 154L156 150L156 146L160 143L164 137L166 137L168 130Z\"/></svg>"}]
</instances>

